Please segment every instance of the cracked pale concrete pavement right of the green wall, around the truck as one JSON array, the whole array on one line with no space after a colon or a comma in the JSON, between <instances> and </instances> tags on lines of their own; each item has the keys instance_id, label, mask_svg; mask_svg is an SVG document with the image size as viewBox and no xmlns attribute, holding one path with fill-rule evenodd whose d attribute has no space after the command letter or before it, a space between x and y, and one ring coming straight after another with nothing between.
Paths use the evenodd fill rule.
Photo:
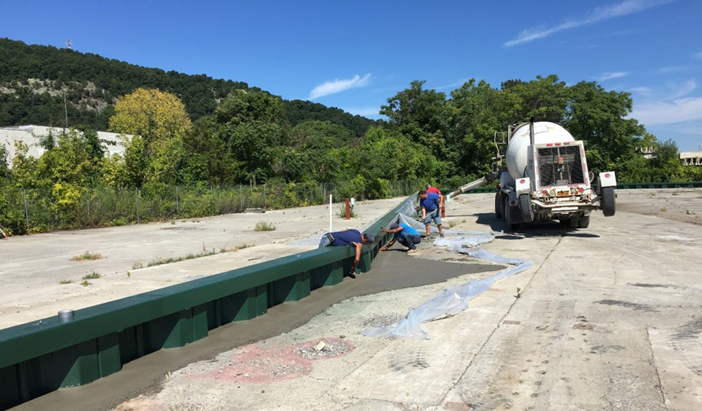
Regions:
<instances>
[{"instance_id":1,"label":"cracked pale concrete pavement right of the green wall, around the truck","mask_svg":"<svg viewBox=\"0 0 702 411\"><path fill-rule=\"evenodd\" d=\"M620 192L618 201L627 203L627 196ZM691 194L691 206L700 206L698 197ZM655 197L648 199L650 207L661 207ZM489 194L455 198L445 224L500 229L493 200ZM426 324L427 340L371 339L358 332L501 267L471 272L468 267L482 263L427 242L416 255L385 252L366 276L390 259L406 259L421 269L427 262L448 264L435 260L459 262L466 274L344 299L289 332L167 372L109 407L701 410L701 241L696 224L621 209L609 218L595 213L588 229L565 231L559 224L540 223L498 236L482 248L532 260L534 268L498 281L461 314ZM319 341L338 352L300 357L301 347ZM167 351L177 355L178 350ZM76 404L72 400L98 395L100 386L93 385L60 390L18 409L48 404L69 409Z\"/></svg>"}]
</instances>

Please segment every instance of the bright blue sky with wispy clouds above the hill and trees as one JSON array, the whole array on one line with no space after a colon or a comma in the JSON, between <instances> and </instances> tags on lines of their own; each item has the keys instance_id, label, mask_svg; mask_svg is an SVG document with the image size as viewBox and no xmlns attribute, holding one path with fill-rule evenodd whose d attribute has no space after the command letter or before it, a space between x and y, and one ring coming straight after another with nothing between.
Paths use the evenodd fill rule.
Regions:
<instances>
[{"instance_id":1,"label":"bright blue sky with wispy clouds above the hill and trees","mask_svg":"<svg viewBox=\"0 0 702 411\"><path fill-rule=\"evenodd\" d=\"M702 1L5 1L0 36L246 81L378 118L426 80L558 74L629 91L635 118L702 145Z\"/></svg>"}]
</instances>

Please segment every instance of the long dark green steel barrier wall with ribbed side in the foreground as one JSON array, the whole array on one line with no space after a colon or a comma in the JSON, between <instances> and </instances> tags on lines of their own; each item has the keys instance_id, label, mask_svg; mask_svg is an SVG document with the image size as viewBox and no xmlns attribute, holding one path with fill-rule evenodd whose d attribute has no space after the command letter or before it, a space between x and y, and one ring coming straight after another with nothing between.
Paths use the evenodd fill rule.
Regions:
<instances>
[{"instance_id":1,"label":"long dark green steel barrier wall with ribbed side in the foreground","mask_svg":"<svg viewBox=\"0 0 702 411\"><path fill-rule=\"evenodd\" d=\"M413 198L416 194L364 231L376 240L364 245L362 272L371 271L380 247L390 241L380 228L394 222ZM221 325L338 284L354 257L351 247L310 250L79 309L68 321L53 316L0 330L0 409L88 384L135 358L185 346Z\"/></svg>"}]
</instances>

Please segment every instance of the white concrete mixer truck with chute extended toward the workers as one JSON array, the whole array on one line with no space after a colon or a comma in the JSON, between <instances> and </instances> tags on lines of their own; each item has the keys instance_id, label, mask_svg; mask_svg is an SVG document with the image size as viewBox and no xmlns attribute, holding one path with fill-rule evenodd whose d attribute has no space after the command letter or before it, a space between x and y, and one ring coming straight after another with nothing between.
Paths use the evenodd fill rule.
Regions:
<instances>
[{"instance_id":1,"label":"white concrete mixer truck with chute extended toward the workers","mask_svg":"<svg viewBox=\"0 0 702 411\"><path fill-rule=\"evenodd\" d=\"M548 121L510 126L504 156L498 154L494 173L453 191L449 198L498 179L495 215L514 231L534 220L559 220L570 228L587 228L590 213L615 213L614 171L595 175L588 170L585 147L568 131ZM507 168L500 168L501 159Z\"/></svg>"}]
</instances>

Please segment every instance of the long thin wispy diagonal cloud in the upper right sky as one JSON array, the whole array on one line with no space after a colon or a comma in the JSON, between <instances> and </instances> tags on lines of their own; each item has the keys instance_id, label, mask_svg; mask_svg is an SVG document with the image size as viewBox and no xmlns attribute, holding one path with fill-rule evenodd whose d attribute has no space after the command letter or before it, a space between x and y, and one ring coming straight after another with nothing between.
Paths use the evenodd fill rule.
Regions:
<instances>
[{"instance_id":1,"label":"long thin wispy diagonal cloud in the upper right sky","mask_svg":"<svg viewBox=\"0 0 702 411\"><path fill-rule=\"evenodd\" d=\"M673 0L624 0L621 3L609 4L608 6L599 6L593 9L588 16L581 20L567 20L560 25L554 27L533 27L523 30L515 39L505 43L505 46L517 46L518 44L528 43L538 39L543 39L551 34L562 32L567 29L591 25L603 20L617 18L624 15L638 13L640 11L661 6L662 4L670 3Z\"/></svg>"}]
</instances>

